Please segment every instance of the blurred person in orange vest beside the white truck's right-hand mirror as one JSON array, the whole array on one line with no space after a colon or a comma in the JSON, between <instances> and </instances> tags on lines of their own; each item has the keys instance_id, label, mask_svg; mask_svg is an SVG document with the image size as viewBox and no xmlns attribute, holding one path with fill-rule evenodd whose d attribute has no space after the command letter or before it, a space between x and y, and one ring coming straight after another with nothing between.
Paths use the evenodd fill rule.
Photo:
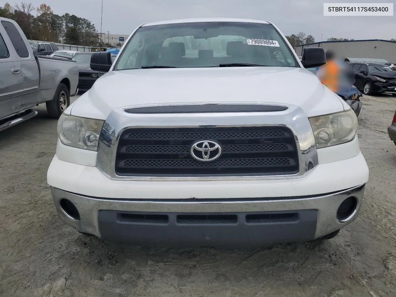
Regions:
<instances>
[{"instance_id":1,"label":"blurred person in orange vest beside the white truck's right-hand mirror","mask_svg":"<svg viewBox=\"0 0 396 297\"><path fill-rule=\"evenodd\" d=\"M327 88L337 92L340 89L340 84L343 84L344 69L345 63L337 61L335 54L328 50L326 51L326 64L319 67L316 76Z\"/></svg>"}]
</instances>

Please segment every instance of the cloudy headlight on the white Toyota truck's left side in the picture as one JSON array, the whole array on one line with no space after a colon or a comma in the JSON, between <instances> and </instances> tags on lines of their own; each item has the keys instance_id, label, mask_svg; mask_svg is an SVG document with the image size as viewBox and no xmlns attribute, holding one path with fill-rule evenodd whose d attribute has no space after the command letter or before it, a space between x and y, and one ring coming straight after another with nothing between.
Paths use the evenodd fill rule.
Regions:
<instances>
[{"instance_id":1,"label":"cloudy headlight on the white Toyota truck's left side in the picture","mask_svg":"<svg viewBox=\"0 0 396 297\"><path fill-rule=\"evenodd\" d=\"M103 120L62 114L58 121L58 137L69 147L97 150Z\"/></svg>"}]
</instances>

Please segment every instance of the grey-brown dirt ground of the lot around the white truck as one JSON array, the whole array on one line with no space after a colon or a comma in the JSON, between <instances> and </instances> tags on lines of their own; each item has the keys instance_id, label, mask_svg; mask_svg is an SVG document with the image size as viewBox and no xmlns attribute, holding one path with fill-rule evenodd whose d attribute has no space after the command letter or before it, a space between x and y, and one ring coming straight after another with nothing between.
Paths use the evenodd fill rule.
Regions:
<instances>
[{"instance_id":1,"label":"grey-brown dirt ground of the lot around the white truck","mask_svg":"<svg viewBox=\"0 0 396 297\"><path fill-rule=\"evenodd\" d=\"M364 98L370 181L360 216L336 238L181 250L106 244L61 222L46 183L57 121L40 106L0 132L0 296L396 296L396 146L386 132L395 109L395 97Z\"/></svg>"}]
</instances>

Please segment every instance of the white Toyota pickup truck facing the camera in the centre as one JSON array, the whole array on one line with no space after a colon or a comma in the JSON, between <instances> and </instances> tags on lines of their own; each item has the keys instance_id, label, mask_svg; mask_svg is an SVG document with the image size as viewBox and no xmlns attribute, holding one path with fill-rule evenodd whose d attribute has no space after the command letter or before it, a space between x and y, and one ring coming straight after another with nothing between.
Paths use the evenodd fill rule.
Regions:
<instances>
[{"instance_id":1,"label":"white Toyota pickup truck facing the camera in the centre","mask_svg":"<svg viewBox=\"0 0 396 297\"><path fill-rule=\"evenodd\" d=\"M65 110L47 179L61 219L109 241L262 246L331 238L369 170L350 107L268 21L148 23Z\"/></svg>"}]
</instances>

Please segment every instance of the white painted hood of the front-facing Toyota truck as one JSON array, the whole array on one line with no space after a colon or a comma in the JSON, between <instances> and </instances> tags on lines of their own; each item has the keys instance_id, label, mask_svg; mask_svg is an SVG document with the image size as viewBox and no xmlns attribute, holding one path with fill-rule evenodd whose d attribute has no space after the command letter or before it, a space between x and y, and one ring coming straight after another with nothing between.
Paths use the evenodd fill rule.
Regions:
<instances>
[{"instance_id":1,"label":"white painted hood of the front-facing Toyota truck","mask_svg":"<svg viewBox=\"0 0 396 297\"><path fill-rule=\"evenodd\" d=\"M222 67L110 71L66 111L105 120L113 109L175 103L284 103L307 116L348 108L303 68Z\"/></svg>"}]
</instances>

